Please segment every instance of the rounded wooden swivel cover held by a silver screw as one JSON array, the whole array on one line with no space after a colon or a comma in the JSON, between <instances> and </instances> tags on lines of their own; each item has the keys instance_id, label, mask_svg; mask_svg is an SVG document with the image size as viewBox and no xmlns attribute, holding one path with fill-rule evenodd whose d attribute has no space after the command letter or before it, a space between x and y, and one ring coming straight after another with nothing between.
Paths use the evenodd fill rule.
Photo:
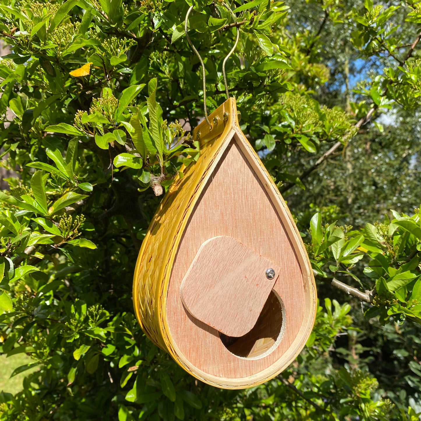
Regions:
<instances>
[{"instance_id":1,"label":"rounded wooden swivel cover held by a silver screw","mask_svg":"<svg viewBox=\"0 0 421 421\"><path fill-rule=\"evenodd\" d=\"M275 277L269 280L266 269ZM193 317L227 336L249 332L280 267L232 237L206 240L181 282L180 296Z\"/></svg>"}]
</instances>

